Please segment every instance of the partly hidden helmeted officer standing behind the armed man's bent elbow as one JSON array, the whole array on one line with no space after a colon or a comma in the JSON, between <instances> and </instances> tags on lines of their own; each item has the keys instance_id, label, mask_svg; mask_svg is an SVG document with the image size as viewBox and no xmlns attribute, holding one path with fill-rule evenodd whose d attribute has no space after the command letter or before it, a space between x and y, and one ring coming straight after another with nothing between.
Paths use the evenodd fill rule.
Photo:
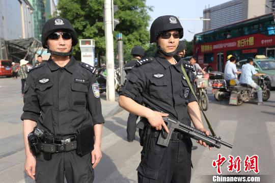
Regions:
<instances>
[{"instance_id":1,"label":"partly hidden helmeted officer standing behind the armed man's bent elbow","mask_svg":"<svg viewBox=\"0 0 275 183\"><path fill-rule=\"evenodd\" d=\"M144 57L144 49L141 46L134 46L131 50L131 55L133 56L133 59L125 64L124 70L126 74L128 74L133 66L135 66L135 62L137 60L140 60ZM142 97L139 95L134 98L134 101L137 103L142 103ZM135 130L136 130L136 120L139 116L135 114L129 113L128 120L127 120L127 140L128 142L132 142L135 139Z\"/></svg>"}]
</instances>

